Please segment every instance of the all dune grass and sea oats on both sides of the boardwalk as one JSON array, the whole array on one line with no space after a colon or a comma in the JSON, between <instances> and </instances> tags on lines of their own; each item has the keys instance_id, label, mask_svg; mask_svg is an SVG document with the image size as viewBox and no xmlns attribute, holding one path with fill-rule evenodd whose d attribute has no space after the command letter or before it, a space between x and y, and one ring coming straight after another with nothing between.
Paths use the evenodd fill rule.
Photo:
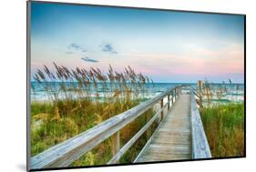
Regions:
<instances>
[{"instance_id":1,"label":"all dune grass and sea oats on both sides of the boardwalk","mask_svg":"<svg viewBox=\"0 0 256 172\"><path fill-rule=\"evenodd\" d=\"M136 73L130 66L123 72L109 66L104 73L98 68L68 69L54 63L53 70L44 66L33 78L32 95L36 96L36 89L39 89L43 90L45 97L39 96L31 102L32 156L137 106L147 99L148 83L152 83L148 76ZM244 156L244 103L216 104L216 99L221 102L227 90L226 84L216 86L207 81L201 90L204 106L200 108L200 115L213 157ZM125 126L120 132L121 147L154 114L154 109L150 108ZM120 163L130 163L137 157L156 123L128 150ZM103 165L111 157L109 137L71 166Z\"/></svg>"}]
</instances>

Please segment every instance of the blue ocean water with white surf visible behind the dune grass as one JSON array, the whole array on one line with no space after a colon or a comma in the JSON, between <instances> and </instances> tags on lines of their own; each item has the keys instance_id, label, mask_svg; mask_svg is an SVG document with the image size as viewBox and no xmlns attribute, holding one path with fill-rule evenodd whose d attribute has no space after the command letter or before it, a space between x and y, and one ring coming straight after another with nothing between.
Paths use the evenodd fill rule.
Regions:
<instances>
[{"instance_id":1,"label":"blue ocean water with white surf visible behind the dune grass","mask_svg":"<svg viewBox=\"0 0 256 172\"><path fill-rule=\"evenodd\" d=\"M78 83L70 83L66 82L64 83L66 87L66 94L72 97L76 97L77 94L74 94L75 92L74 87L78 86ZM153 84L146 84L145 87L147 87L148 93L147 98L151 98L153 96L157 96L160 93L166 91L169 88L173 88L175 86L181 86L181 85L190 85L194 88L197 88L197 84L195 83L153 83ZM217 91L220 90L220 86L226 87L226 93L223 95L222 101L243 101L244 99L244 85L243 84L211 84L211 89L213 91L213 97L212 99L218 99L216 95ZM51 89L47 89L47 87L51 87ZM45 82L38 84L37 82L31 82L31 101L49 101L49 94L54 95L57 93L59 98L62 98L65 96L64 92L61 91L63 87L63 84L60 82ZM96 90L94 86L90 86L90 96L93 97L96 95ZM103 92L104 90L104 92ZM86 92L86 90L83 90ZM141 90L143 92L143 90ZM100 84L97 85L97 93L99 97L103 97L103 94L113 95L113 92L107 85L105 88L103 88Z\"/></svg>"}]
</instances>

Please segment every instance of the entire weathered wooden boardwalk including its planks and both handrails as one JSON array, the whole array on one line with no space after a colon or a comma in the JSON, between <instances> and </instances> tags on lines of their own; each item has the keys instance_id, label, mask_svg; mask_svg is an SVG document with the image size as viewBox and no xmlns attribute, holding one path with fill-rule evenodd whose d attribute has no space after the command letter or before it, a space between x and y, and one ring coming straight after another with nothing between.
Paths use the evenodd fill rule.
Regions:
<instances>
[{"instance_id":1,"label":"entire weathered wooden boardwalk including its planks and both handrails","mask_svg":"<svg viewBox=\"0 0 256 172\"><path fill-rule=\"evenodd\" d=\"M210 158L210 147L201 123L200 111L195 97L197 95L196 90L191 86L169 88L159 96L134 106L118 116L113 116L76 137L69 138L55 147L50 147L35 157L31 157L28 161L28 167L30 169L68 167L109 137L111 137L113 156L107 164L118 164L119 159L159 118L161 122L158 128L148 139L147 144L134 162ZM168 99L167 102L164 102L165 98ZM124 146L120 147L120 130L159 103L160 108L156 114Z\"/></svg>"}]
</instances>

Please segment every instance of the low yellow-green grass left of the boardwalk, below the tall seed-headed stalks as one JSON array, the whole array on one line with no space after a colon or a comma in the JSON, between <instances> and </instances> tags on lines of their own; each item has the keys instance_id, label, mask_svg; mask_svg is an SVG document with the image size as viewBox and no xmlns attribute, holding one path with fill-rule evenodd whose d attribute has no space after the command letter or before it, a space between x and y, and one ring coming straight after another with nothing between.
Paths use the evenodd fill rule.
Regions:
<instances>
[{"instance_id":1,"label":"low yellow-green grass left of the boardwalk, below the tall seed-headed stalks","mask_svg":"<svg viewBox=\"0 0 256 172\"><path fill-rule=\"evenodd\" d=\"M79 104L81 106L79 106ZM32 103L32 130L31 130L31 153L32 156L43 152L49 147L53 147L58 143L67 140L70 137L75 137L79 133L96 126L105 121L111 116L118 115L132 106L138 105L138 101L130 101L123 106L121 102L111 105L106 103L94 103L90 101L72 101L58 102L58 106L54 107L46 103ZM87 108L83 108L86 106ZM42 113L44 112L44 113ZM120 133L121 146L128 142L137 131L144 126L148 121L148 116L154 115L154 111L149 109L143 116L138 117L134 122L125 126ZM150 129L150 135L153 132L154 126ZM88 152L84 157L81 157L73 163L74 166L85 165L102 165L106 164L112 157L111 154L111 138L107 139L102 144ZM128 150L128 153L122 157L121 163L132 162L138 155L138 152L146 144L147 135L143 135L133 147Z\"/></svg>"}]
</instances>

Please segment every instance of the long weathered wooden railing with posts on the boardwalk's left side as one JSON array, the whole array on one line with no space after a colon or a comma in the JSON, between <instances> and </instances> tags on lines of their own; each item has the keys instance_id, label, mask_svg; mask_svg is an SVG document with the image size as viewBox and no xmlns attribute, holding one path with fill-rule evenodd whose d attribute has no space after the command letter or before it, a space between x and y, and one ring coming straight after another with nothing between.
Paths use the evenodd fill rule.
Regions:
<instances>
[{"instance_id":1,"label":"long weathered wooden railing with posts on the boardwalk's left side","mask_svg":"<svg viewBox=\"0 0 256 172\"><path fill-rule=\"evenodd\" d=\"M138 137L140 137L147 130L148 126L150 126L159 115L161 119L163 118L164 109L166 106L168 106L169 109L169 103L176 101L180 92L181 86L170 88L161 93L159 96L155 96L146 102L140 103L138 106L134 106L118 116L113 116L97 126L94 126L77 135L76 137L69 138L66 141L36 155L35 157L31 157L31 168L38 169L48 167L67 167L72 162L77 160L77 158L83 156L92 148L97 147L97 145L111 136L115 138L112 139L114 140L114 144L112 145L114 157L108 162L108 164L118 162L118 159L136 142ZM168 102L166 105L163 105L163 99L167 96ZM169 96L171 96L171 100ZM127 126L129 123L138 118L138 116L142 115L149 108L155 106L159 102L161 108L157 114L153 116L148 123L128 141L125 146L119 149L119 130L124 126Z\"/></svg>"}]
</instances>

